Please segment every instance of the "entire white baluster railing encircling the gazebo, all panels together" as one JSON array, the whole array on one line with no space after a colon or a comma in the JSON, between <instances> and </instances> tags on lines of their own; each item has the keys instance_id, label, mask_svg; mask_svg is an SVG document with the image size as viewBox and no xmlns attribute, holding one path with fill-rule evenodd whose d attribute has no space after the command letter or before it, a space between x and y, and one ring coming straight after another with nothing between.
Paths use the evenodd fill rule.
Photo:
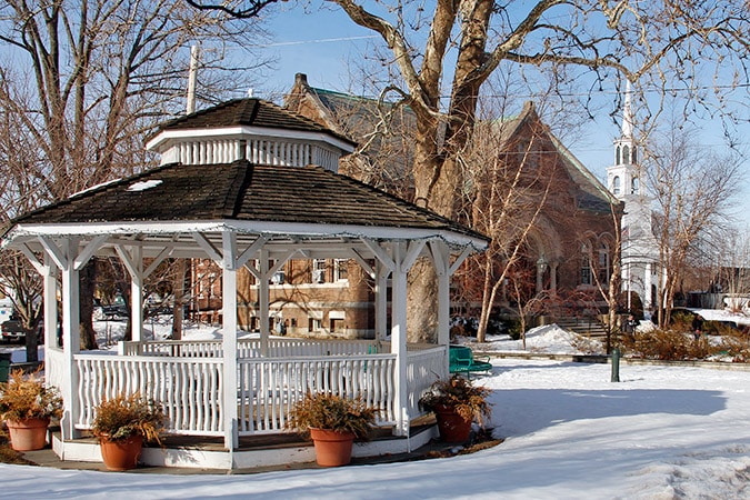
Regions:
<instances>
[{"instance_id":1,"label":"entire white baluster railing encircling the gazebo, all panels together","mask_svg":"<svg viewBox=\"0 0 750 500\"><path fill-rule=\"evenodd\" d=\"M272 339L269 350L274 356L268 358L256 354L259 342L259 339L239 342L242 350L252 351L238 361L240 436L287 430L289 410L308 392L361 397L367 404L378 409L379 424L397 421L396 354L372 353L373 341ZM217 356L221 353L220 341L127 342L121 346L121 351L133 349L149 352L149 356L81 353L74 357L79 380L76 428L91 428L94 408L102 400L138 391L163 404L169 432L223 433L223 359ZM298 354L311 351L323 354ZM172 352L180 357L169 356ZM63 360L59 362L62 366ZM419 398L437 377L447 376L446 364L446 347L408 351L410 417L421 413ZM54 380L59 378L54 372L51 376Z\"/></svg>"}]
</instances>

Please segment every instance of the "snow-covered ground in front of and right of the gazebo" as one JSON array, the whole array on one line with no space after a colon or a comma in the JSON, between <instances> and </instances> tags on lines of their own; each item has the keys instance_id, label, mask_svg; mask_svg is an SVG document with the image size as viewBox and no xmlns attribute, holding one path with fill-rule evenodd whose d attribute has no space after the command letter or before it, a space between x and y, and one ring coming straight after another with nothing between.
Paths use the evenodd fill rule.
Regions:
<instances>
[{"instance_id":1,"label":"snow-covered ground in front of and right of the gazebo","mask_svg":"<svg viewBox=\"0 0 750 500\"><path fill-rule=\"evenodd\" d=\"M527 349L574 352L567 338L544 327L529 333ZM513 349L518 341L492 340L491 350ZM621 382L611 382L608 364L492 363L492 374L476 380L492 389L491 427L506 441L477 453L252 476L123 476L0 464L0 497L750 498L750 371L624 364Z\"/></svg>"}]
</instances>

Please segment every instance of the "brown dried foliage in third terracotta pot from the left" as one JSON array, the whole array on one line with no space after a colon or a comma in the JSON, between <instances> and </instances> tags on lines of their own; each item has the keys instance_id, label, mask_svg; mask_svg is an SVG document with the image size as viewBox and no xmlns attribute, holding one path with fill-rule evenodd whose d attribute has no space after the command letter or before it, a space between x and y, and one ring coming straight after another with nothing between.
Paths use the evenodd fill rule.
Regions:
<instances>
[{"instance_id":1,"label":"brown dried foliage in third terracotta pot from the left","mask_svg":"<svg viewBox=\"0 0 750 500\"><path fill-rule=\"evenodd\" d=\"M360 397L352 399L331 392L308 392L290 411L288 427L303 434L309 434L311 428L351 432L356 439L366 441L377 412Z\"/></svg>"}]
</instances>

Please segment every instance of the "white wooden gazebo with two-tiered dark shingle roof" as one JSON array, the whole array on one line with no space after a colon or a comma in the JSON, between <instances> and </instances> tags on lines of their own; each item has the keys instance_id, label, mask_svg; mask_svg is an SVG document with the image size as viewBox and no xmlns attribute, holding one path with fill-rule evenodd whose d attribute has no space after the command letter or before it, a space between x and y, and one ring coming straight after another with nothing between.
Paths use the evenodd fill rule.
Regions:
<instances>
[{"instance_id":1,"label":"white wooden gazebo with two-tiered dark shingle roof","mask_svg":"<svg viewBox=\"0 0 750 500\"><path fill-rule=\"evenodd\" d=\"M212 451L152 449L142 459L153 464L310 460L300 449L259 456L241 446L286 432L290 406L308 391L361 396L378 407L379 424L394 439L360 453L420 444L403 438L420 414L420 394L448 374L449 279L487 238L338 174L338 158L353 144L263 100L233 100L167 123L148 146L162 166L21 216L3 234L3 247L22 251L43 277L44 330L57 331L58 320L62 327L61 348L56 336L44 339L46 377L64 399L58 456L99 460L98 447L82 439L93 408L134 391L161 401L169 433L221 442ZM131 278L132 341L117 356L80 350L79 272L93 256L118 257ZM220 340L143 339L143 281L168 258L220 267ZM292 258L358 262L374 283L376 339L272 338L269 280ZM436 344L407 342L407 276L419 258L438 277ZM238 339L242 267L258 282L259 338Z\"/></svg>"}]
</instances>

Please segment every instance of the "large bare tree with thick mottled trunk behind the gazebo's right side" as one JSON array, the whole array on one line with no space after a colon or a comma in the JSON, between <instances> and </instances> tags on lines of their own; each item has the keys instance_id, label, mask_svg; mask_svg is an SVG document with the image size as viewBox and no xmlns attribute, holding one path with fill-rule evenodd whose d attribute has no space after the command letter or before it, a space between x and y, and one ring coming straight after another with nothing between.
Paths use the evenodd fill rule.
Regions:
<instances>
[{"instance_id":1,"label":"large bare tree with thick mottled trunk behind the gazebo's right side","mask_svg":"<svg viewBox=\"0 0 750 500\"><path fill-rule=\"evenodd\" d=\"M459 154L471 140L482 83L500 66L541 68L561 79L577 78L591 90L624 78L663 93L684 90L704 106L722 106L727 89L747 81L750 16L744 2L441 0L431 12L414 2L330 2L387 46L390 58L383 64L393 78L383 93L397 96L417 117L414 199L449 218L461 206ZM251 17L263 2L231 7L232 13ZM566 67L580 71L559 71ZM706 76L710 86L697 87ZM434 291L429 273L410 290L413 341L433 336Z\"/></svg>"}]
</instances>

